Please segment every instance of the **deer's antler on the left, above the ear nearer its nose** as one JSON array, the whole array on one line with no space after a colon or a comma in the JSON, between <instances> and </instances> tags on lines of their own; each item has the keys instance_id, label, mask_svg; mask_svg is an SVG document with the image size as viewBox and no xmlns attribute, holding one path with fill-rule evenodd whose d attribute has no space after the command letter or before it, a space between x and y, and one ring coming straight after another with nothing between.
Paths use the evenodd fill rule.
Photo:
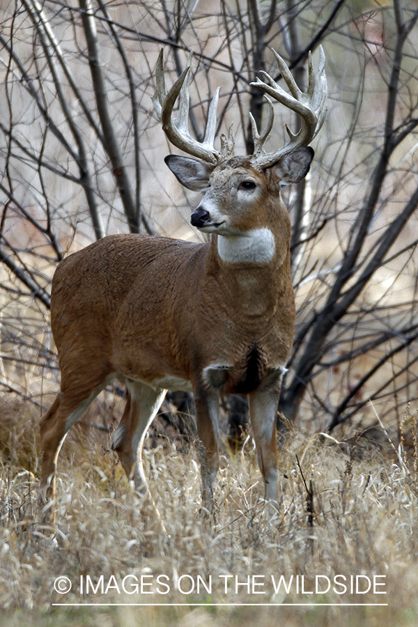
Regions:
<instances>
[{"instance_id":1,"label":"deer's antler on the left, above the ear nearer its nose","mask_svg":"<svg viewBox=\"0 0 418 627\"><path fill-rule=\"evenodd\" d=\"M191 137L189 134L188 118L191 61L192 53L189 54L187 67L173 84L169 93L167 93L164 81L163 51L161 50L160 55L158 56L157 66L155 68L157 85L153 96L154 108L158 119L162 123L164 133L167 135L167 139L171 141L171 144L177 146L180 150L184 150L185 153L188 153L189 155L193 155L194 157L198 157L199 159L209 163L217 164L233 152L234 140L232 128L229 130L228 138L226 138L224 134L221 135L221 151L219 152L218 150L215 150L214 142L217 122L216 113L219 99L218 87L210 102L203 142L196 141L196 139ZM173 118L173 106L179 95L180 100L178 116Z\"/></svg>"}]
</instances>

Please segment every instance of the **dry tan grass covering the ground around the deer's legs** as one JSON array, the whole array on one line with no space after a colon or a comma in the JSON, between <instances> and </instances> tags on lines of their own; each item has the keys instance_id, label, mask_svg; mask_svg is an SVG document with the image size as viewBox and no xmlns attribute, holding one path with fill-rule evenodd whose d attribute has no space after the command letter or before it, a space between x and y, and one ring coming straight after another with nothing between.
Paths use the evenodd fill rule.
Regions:
<instances>
[{"instance_id":1,"label":"dry tan grass covering the ground around the deer's legs","mask_svg":"<svg viewBox=\"0 0 418 627\"><path fill-rule=\"evenodd\" d=\"M127 488L105 435L95 432L86 438L86 433L73 430L59 463L58 520L48 527L40 522L36 506L36 417L22 402L3 402L1 411L2 626L417 624L416 460L396 456L390 444L378 450L360 439L355 447L341 447L293 428L280 453L281 510L269 519L259 501L260 474L247 440L240 454L224 456L215 524L211 524L199 506L199 468L193 449L185 452L176 440L167 440L164 446L145 452L154 505ZM310 482L313 496L309 496ZM54 591L54 580L62 575L72 582L69 594ZM80 578L85 586L87 575L95 585L99 583L97 594L91 589L88 595L80 591ZM101 575L103 592L110 583L107 594L100 590ZM127 591L132 590L134 577L141 580L141 575L145 584L153 582L153 586L144 587L144 594L127 594L122 586L126 575L133 575L125 580ZM158 582L159 575L165 578ZM180 579L183 593L194 581L189 594L177 589L182 575L187 575ZM212 578L211 594L202 586L197 594L199 575L206 585ZM232 575L227 594L225 578L219 575ZM254 591L265 594L252 594L245 585L237 593L235 576L245 583L253 575L255 583L264 584ZM277 582L280 575L286 582L293 575L288 594L283 587L274 593L272 576ZM326 594L302 594L295 585L298 576L301 588L302 575L305 591L314 589L316 575L323 575L321 589L325 577L333 585L334 576L345 575L348 591L336 594L331 587ZM373 590L351 594L350 575L385 575L380 582L385 581L382 589L387 594L373 594ZM158 588L167 591L164 584L169 585L169 593L158 594ZM87 602L158 605L53 605ZM255 605L239 607L242 603ZM388 605L343 607L341 603Z\"/></svg>"}]
</instances>

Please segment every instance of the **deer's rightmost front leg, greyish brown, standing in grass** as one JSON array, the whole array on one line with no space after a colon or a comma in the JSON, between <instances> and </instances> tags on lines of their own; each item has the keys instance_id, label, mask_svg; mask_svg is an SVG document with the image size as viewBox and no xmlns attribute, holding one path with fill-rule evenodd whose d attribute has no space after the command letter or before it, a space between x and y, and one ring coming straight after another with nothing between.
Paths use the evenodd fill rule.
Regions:
<instances>
[{"instance_id":1,"label":"deer's rightmost front leg, greyish brown, standing in grass","mask_svg":"<svg viewBox=\"0 0 418 627\"><path fill-rule=\"evenodd\" d=\"M249 415L256 442L258 465L265 483L265 500L277 503L278 472L276 415L279 392L272 389L258 389L249 394Z\"/></svg>"}]
</instances>

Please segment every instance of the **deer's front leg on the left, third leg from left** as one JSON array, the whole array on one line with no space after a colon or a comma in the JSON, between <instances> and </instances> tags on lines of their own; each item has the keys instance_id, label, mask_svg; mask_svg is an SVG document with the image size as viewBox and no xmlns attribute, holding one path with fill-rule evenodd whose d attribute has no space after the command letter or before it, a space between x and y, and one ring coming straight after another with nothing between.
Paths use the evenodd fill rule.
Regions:
<instances>
[{"instance_id":1,"label":"deer's front leg on the left, third leg from left","mask_svg":"<svg viewBox=\"0 0 418 627\"><path fill-rule=\"evenodd\" d=\"M201 446L202 504L213 510L215 479L219 467L219 394L214 389L195 389L196 426Z\"/></svg>"}]
</instances>

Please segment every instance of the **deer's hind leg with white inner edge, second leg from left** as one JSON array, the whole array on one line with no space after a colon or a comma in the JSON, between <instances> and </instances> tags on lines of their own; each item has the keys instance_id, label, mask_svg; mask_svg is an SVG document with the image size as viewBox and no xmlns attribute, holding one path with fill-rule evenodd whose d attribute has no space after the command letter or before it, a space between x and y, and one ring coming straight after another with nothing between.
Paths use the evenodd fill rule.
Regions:
<instances>
[{"instance_id":1,"label":"deer's hind leg with white inner edge, second leg from left","mask_svg":"<svg viewBox=\"0 0 418 627\"><path fill-rule=\"evenodd\" d=\"M142 445L148 427L167 392L155 389L146 383L129 380L126 382L127 398L121 422L114 431L111 447L118 454L123 470L137 490L144 493L146 479L142 468Z\"/></svg>"}]
</instances>

